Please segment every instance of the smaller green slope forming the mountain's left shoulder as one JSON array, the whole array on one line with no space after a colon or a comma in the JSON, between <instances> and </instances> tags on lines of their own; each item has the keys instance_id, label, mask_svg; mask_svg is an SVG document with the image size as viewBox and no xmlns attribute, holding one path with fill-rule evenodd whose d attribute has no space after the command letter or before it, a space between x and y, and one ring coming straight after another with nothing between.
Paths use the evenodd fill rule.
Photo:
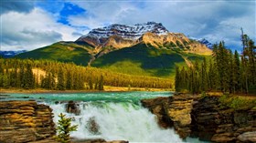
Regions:
<instances>
[{"instance_id":1,"label":"smaller green slope forming the mountain's left shoulder","mask_svg":"<svg viewBox=\"0 0 256 143\"><path fill-rule=\"evenodd\" d=\"M87 44L78 45L73 42L58 42L50 46L17 55L17 58L50 59L61 62L73 62L76 65L87 66L91 59Z\"/></svg>"}]
</instances>

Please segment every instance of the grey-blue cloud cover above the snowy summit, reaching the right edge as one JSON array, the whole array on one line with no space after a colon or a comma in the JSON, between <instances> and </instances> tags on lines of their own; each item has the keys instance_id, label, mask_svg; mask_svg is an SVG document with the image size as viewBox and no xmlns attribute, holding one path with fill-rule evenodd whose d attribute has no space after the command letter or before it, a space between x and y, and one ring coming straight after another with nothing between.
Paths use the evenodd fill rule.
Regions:
<instances>
[{"instance_id":1,"label":"grey-blue cloud cover above the snowy summit, reaching the right edge","mask_svg":"<svg viewBox=\"0 0 256 143\"><path fill-rule=\"evenodd\" d=\"M95 28L105 23L136 24L161 22L171 32L207 37L212 43L225 40L227 45L240 46L240 27L256 35L255 2L246 1L144 1L75 2L87 10L86 15L70 16L76 26ZM254 39L255 40L255 39Z\"/></svg>"}]
</instances>

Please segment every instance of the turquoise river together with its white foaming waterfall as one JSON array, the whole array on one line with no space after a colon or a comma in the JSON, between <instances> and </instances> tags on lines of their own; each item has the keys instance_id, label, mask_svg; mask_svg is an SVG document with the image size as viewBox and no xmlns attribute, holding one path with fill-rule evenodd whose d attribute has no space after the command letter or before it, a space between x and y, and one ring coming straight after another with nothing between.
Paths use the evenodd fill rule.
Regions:
<instances>
[{"instance_id":1,"label":"turquoise river together with its white foaming waterfall","mask_svg":"<svg viewBox=\"0 0 256 143\"><path fill-rule=\"evenodd\" d=\"M72 117L78 125L74 138L104 138L130 142L200 142L195 138L182 140L173 128L160 128L156 117L140 104L144 98L169 97L171 92L102 92L78 94L10 94L8 100L34 99L53 109L54 122L60 113ZM66 112L69 100L76 101L80 114ZM58 101L58 103L57 103Z\"/></svg>"}]
</instances>

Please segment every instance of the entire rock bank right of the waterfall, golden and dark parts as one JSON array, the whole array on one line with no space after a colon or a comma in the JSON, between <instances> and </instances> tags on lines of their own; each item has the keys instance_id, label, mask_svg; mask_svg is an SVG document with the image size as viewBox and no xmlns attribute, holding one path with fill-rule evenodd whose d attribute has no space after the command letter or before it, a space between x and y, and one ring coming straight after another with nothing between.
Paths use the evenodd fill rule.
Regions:
<instances>
[{"instance_id":1,"label":"entire rock bank right of the waterfall, golden and dark parts","mask_svg":"<svg viewBox=\"0 0 256 143\"><path fill-rule=\"evenodd\" d=\"M178 94L142 100L163 128L175 128L181 138L213 142L256 142L256 109L223 107L219 97Z\"/></svg>"}]
</instances>

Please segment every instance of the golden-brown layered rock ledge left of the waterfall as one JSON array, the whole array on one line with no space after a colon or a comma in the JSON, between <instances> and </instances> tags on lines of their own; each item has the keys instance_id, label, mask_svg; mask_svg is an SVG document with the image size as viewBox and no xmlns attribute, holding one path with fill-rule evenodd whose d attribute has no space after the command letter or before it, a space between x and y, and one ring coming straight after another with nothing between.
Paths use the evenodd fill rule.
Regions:
<instances>
[{"instance_id":1,"label":"golden-brown layered rock ledge left of the waterfall","mask_svg":"<svg viewBox=\"0 0 256 143\"><path fill-rule=\"evenodd\" d=\"M21 143L55 135L51 108L36 101L0 102L0 142Z\"/></svg>"}]
</instances>

